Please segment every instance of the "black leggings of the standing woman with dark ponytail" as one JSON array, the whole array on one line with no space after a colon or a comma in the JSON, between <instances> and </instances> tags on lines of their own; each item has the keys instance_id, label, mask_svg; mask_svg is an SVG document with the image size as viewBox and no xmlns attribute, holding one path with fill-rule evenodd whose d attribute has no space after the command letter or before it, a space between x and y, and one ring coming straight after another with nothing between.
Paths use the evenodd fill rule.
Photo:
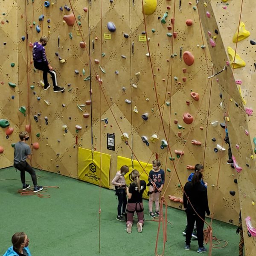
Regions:
<instances>
[{"instance_id":1,"label":"black leggings of the standing woman with dark ponytail","mask_svg":"<svg viewBox=\"0 0 256 256\"><path fill-rule=\"evenodd\" d=\"M195 208L201 218L204 220L205 218L205 211L202 211L200 208ZM186 215L188 219L188 226L186 230L186 244L190 244L192 232L194 229L194 224L196 222L196 229L197 229L197 237L198 237L198 245L199 247L204 247L204 221L198 217L195 211L192 209L190 205L188 205L186 209Z\"/></svg>"}]
</instances>

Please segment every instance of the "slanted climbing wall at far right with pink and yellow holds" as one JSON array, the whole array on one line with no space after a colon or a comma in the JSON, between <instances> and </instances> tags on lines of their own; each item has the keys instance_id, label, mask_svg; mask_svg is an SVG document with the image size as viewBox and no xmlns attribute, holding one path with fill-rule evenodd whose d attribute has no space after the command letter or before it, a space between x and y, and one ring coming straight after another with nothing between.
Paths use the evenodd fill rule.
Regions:
<instances>
[{"instance_id":1,"label":"slanted climbing wall at far right with pink and yellow holds","mask_svg":"<svg viewBox=\"0 0 256 256\"><path fill-rule=\"evenodd\" d=\"M255 86L255 44L253 19L249 13L254 13L255 6L247 1L205 1L199 3L204 32L213 64L217 71L224 65L227 70L216 76L222 94L224 112L229 117L227 122L232 154L236 159L238 175L239 201L242 215L246 255L255 255L255 239L248 232L245 218L251 218L252 227L256 225L254 209L255 201L255 116L254 97ZM217 22L218 21L218 22ZM240 24L240 28L239 28ZM237 33L239 28L239 38ZM218 29L220 35L211 47L209 32ZM211 38L212 40L212 38ZM230 48L233 49L232 53ZM233 70L233 65L235 69ZM235 171L236 172L236 171ZM239 173L238 173L239 172ZM235 184L233 185L235 186Z\"/></svg>"}]
</instances>

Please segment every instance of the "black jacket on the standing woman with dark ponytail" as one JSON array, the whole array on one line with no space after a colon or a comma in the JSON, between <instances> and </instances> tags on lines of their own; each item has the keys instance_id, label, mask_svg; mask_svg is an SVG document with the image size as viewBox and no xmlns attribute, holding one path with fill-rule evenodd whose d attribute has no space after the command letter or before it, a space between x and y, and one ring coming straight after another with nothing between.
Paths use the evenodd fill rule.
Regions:
<instances>
[{"instance_id":1,"label":"black jacket on the standing woman with dark ponytail","mask_svg":"<svg viewBox=\"0 0 256 256\"><path fill-rule=\"evenodd\" d=\"M189 181L184 186L184 191L189 197L189 200L194 208L199 209L201 212L206 212L207 215L210 215L207 188L205 186L203 186L201 183L193 186L192 182ZM183 193L184 208L187 208L188 205L190 205L186 195Z\"/></svg>"}]
</instances>

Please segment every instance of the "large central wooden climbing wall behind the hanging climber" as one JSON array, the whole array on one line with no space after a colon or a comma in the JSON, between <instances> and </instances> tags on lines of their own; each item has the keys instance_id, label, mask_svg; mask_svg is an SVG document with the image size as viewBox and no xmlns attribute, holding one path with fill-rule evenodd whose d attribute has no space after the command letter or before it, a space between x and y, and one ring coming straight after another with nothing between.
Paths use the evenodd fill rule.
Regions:
<instances>
[{"instance_id":1,"label":"large central wooden climbing wall behind the hanging climber","mask_svg":"<svg viewBox=\"0 0 256 256\"><path fill-rule=\"evenodd\" d=\"M222 93L221 99L216 79L208 78L219 67L211 61L198 7L184 2L179 6L179 1L157 1L155 12L145 15L144 23L140 1L103 1L101 6L100 1L88 1L85 5L80 0L58 0L49 7L44 2L19 1L15 16L15 56L19 67L16 82L20 95L13 112L18 115L20 130L31 125L29 142L39 143L39 149L33 149L32 165L77 178L78 148L93 149L111 155L111 182L117 171L117 156L144 163L158 157L166 170L168 199L168 195L182 197L180 183L185 185L193 172L187 166L201 163L205 166L204 180L208 183L212 211L215 204L214 218L236 224L239 193L233 180L238 174L226 164L228 146L223 144L225 130L220 126L224 123L220 103L225 108L225 95ZM73 10L69 10L71 7ZM79 26L76 22L68 26L63 20L64 15L72 12ZM44 20L40 21L41 15ZM192 21L188 22L191 26L187 20ZM109 22L116 31L108 29ZM34 70L31 63L29 43L38 41L41 35L49 37L47 58L57 73L58 86L66 87L64 93L54 93L52 86L43 90L42 73ZM79 46L83 40L85 48ZM194 56L191 66L184 62L184 52ZM10 70L11 62L15 61L9 61ZM6 87L7 84L6 80ZM12 96L13 89L8 89L1 100ZM198 93L199 100L190 93ZM21 106L26 107L26 116L18 111ZM11 108L7 106L5 111L11 112ZM192 124L183 122L184 113L193 116ZM11 120L9 115L3 118ZM1 137L5 136L4 131L1 128ZM128 143L121 139L122 133L127 134ZM107 134L115 135L115 151L107 149ZM154 134L158 137L155 143L151 141ZM192 140L201 145L191 143ZM168 141L169 147L164 141ZM10 161L12 142L5 146ZM175 150L184 155L175 154ZM183 207L169 199L168 204Z\"/></svg>"}]
</instances>

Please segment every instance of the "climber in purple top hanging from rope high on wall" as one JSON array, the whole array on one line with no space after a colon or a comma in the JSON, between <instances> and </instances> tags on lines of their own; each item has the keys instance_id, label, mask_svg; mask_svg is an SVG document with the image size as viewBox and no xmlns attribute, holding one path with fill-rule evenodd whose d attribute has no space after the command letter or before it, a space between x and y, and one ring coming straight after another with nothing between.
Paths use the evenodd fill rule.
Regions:
<instances>
[{"instance_id":1,"label":"climber in purple top hanging from rope high on wall","mask_svg":"<svg viewBox=\"0 0 256 256\"><path fill-rule=\"evenodd\" d=\"M47 42L48 42L48 38L43 35L40 38L39 42L34 43L34 48L33 48L34 66L36 69L42 70L44 72L43 73L44 90L47 90L51 86L51 84L48 83L48 79L47 79L47 73L49 73L52 76L53 91L55 93L63 92L65 88L58 87L56 72L50 66L46 58L44 46L46 46Z\"/></svg>"}]
</instances>

